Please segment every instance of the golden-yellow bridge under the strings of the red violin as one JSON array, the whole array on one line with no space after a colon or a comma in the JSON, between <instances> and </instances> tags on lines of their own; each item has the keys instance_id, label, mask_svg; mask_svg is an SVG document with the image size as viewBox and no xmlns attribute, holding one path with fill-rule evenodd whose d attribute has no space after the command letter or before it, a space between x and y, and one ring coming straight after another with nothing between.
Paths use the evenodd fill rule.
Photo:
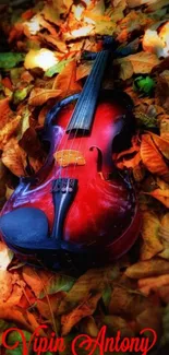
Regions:
<instances>
[{"instance_id":1,"label":"golden-yellow bridge under the strings of the red violin","mask_svg":"<svg viewBox=\"0 0 169 355\"><path fill-rule=\"evenodd\" d=\"M72 164L85 165L86 161L84 155L80 151L63 150L55 153L56 162L61 167L67 167Z\"/></svg>"}]
</instances>

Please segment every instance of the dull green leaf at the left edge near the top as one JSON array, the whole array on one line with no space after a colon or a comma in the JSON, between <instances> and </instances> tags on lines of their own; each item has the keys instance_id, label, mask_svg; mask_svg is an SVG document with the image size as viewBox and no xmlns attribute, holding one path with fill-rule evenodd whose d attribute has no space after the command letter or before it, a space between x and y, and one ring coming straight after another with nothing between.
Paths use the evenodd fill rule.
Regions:
<instances>
[{"instance_id":1,"label":"dull green leaf at the left edge near the top","mask_svg":"<svg viewBox=\"0 0 169 355\"><path fill-rule=\"evenodd\" d=\"M24 61L23 54L14 54L14 52L1 52L0 54L0 68L2 68L2 69L14 68L21 61Z\"/></svg>"}]
</instances>

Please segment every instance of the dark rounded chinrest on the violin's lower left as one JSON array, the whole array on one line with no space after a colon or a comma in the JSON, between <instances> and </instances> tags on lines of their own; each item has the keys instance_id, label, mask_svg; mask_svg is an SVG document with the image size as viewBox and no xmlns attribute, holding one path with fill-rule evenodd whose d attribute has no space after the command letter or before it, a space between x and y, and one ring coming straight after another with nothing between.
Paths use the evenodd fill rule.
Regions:
<instances>
[{"instance_id":1,"label":"dark rounded chinrest on the violin's lower left","mask_svg":"<svg viewBox=\"0 0 169 355\"><path fill-rule=\"evenodd\" d=\"M46 214L36 208L19 208L0 217L0 233L14 251L37 253L68 250L82 251L81 245L64 241L60 236L49 234Z\"/></svg>"}]
</instances>

